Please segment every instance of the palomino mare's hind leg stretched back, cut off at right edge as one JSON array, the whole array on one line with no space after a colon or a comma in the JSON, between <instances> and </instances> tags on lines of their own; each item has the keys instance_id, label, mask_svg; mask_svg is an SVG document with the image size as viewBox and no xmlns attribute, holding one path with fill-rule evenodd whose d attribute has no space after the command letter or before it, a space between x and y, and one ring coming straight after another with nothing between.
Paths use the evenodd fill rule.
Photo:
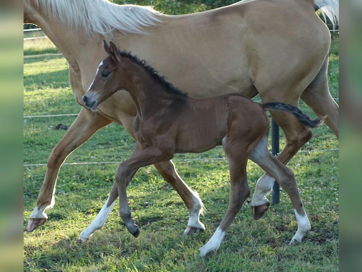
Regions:
<instances>
[{"instance_id":1,"label":"palomino mare's hind leg stretched back, cut off at right edge","mask_svg":"<svg viewBox=\"0 0 362 272\"><path fill-rule=\"evenodd\" d=\"M323 66L321 67L319 73L313 79L311 84L304 90L300 98L319 117L327 116L324 120L324 123L332 129L333 133L338 137L338 110L339 107L337 103L331 96L328 88L328 55L325 58Z\"/></svg>"}]
</instances>

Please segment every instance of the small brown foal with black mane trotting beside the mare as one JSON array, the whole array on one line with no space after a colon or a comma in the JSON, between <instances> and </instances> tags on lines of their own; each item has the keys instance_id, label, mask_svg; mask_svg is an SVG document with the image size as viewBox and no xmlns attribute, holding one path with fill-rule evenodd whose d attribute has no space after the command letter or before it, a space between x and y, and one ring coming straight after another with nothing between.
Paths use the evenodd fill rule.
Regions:
<instances>
[{"instance_id":1,"label":"small brown foal with black mane trotting beside the mare","mask_svg":"<svg viewBox=\"0 0 362 272\"><path fill-rule=\"evenodd\" d=\"M83 102L86 107L96 110L111 94L125 89L135 103L137 115L133 129L137 142L130 158L121 162L115 173L119 214L132 235L139 235L139 227L131 219L126 187L137 170L171 160L174 153L201 153L222 145L230 170L230 203L219 227L200 248L199 255L205 256L219 248L236 213L249 196L248 158L275 178L289 194L298 221L298 230L291 243L301 242L311 228L310 222L294 173L268 150L269 118L265 110L290 112L308 127L316 127L321 123L320 119L312 121L288 104L257 104L237 94L192 99L166 82L144 61L117 50L112 42L109 46L104 42L104 48L109 57L100 63ZM267 206L263 208L264 211L268 209ZM195 221L200 223L198 218Z\"/></svg>"}]
</instances>

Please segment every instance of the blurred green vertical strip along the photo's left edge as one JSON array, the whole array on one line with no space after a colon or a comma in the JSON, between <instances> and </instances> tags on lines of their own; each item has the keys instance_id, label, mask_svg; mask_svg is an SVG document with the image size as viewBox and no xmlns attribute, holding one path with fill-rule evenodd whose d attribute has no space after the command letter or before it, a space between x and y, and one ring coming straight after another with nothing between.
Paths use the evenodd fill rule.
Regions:
<instances>
[{"instance_id":1,"label":"blurred green vertical strip along the photo's left edge","mask_svg":"<svg viewBox=\"0 0 362 272\"><path fill-rule=\"evenodd\" d=\"M8 1L10 2L10 1ZM18 0L0 6L0 267L22 262L22 10Z\"/></svg>"}]
</instances>

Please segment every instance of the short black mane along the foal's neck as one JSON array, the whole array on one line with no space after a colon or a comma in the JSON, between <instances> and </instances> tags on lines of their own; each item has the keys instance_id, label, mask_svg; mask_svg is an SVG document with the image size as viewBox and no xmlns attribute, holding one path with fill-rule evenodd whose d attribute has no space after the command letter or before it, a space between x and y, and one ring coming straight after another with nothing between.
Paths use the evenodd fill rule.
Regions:
<instances>
[{"instance_id":1,"label":"short black mane along the foal's neck","mask_svg":"<svg viewBox=\"0 0 362 272\"><path fill-rule=\"evenodd\" d=\"M150 65L146 65L146 61L144 59L139 59L136 55L132 55L130 52L118 50L119 55L121 57L126 57L130 59L132 62L142 66L144 70L147 71L160 85L164 86L169 92L172 94L187 96L186 92L182 92L178 90L175 86L165 80L166 77L160 76L155 68L151 67Z\"/></svg>"}]
</instances>

